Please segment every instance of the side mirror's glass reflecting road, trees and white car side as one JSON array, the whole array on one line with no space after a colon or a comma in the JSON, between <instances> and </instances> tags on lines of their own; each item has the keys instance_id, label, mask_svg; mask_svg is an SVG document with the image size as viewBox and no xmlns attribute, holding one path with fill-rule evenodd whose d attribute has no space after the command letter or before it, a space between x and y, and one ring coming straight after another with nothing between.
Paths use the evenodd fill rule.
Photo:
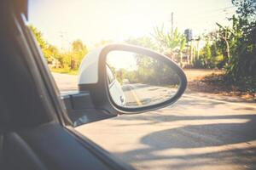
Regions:
<instances>
[{"instance_id":1,"label":"side mirror's glass reflecting road, trees and white car side","mask_svg":"<svg viewBox=\"0 0 256 170\"><path fill-rule=\"evenodd\" d=\"M179 79L170 65L159 59L127 51L107 54L108 89L116 105L137 108L171 99Z\"/></svg>"}]
</instances>

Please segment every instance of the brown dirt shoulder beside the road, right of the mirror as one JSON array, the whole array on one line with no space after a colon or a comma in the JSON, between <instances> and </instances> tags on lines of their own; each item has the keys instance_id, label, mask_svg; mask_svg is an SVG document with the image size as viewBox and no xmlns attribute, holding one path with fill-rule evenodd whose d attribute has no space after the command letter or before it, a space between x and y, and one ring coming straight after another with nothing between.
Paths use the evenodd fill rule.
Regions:
<instances>
[{"instance_id":1,"label":"brown dirt shoulder beside the road, right of the mirror","mask_svg":"<svg viewBox=\"0 0 256 170\"><path fill-rule=\"evenodd\" d=\"M184 71L188 78L188 88L186 92L189 94L203 93L207 97L211 95L211 97L216 99L236 102L256 102L255 93L244 93L235 87L206 81L206 78L220 76L224 74L224 71L199 69L188 69Z\"/></svg>"}]
</instances>

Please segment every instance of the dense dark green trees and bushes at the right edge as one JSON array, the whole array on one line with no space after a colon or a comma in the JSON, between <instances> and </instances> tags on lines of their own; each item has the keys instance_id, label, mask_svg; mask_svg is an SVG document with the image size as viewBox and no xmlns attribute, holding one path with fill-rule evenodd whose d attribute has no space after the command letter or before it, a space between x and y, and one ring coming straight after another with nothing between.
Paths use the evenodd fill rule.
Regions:
<instances>
[{"instance_id":1,"label":"dense dark green trees and bushes at the right edge","mask_svg":"<svg viewBox=\"0 0 256 170\"><path fill-rule=\"evenodd\" d=\"M224 68L224 81L238 87L256 87L256 1L232 0L236 15L232 26L218 25L218 31L201 50L194 65ZM209 35L206 38L209 40ZM211 50L210 50L211 49Z\"/></svg>"}]
</instances>

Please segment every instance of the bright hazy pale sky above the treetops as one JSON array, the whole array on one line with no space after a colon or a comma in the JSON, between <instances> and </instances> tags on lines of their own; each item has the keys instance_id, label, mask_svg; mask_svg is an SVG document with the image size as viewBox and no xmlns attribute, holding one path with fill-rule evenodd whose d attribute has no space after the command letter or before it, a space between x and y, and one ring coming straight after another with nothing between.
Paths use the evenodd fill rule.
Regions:
<instances>
[{"instance_id":1,"label":"bright hazy pale sky above the treetops","mask_svg":"<svg viewBox=\"0 0 256 170\"><path fill-rule=\"evenodd\" d=\"M73 40L89 48L107 40L124 42L129 37L150 36L155 26L183 32L190 28L196 37L228 25L235 14L231 0L31 0L28 22L44 39L67 49Z\"/></svg>"}]
</instances>

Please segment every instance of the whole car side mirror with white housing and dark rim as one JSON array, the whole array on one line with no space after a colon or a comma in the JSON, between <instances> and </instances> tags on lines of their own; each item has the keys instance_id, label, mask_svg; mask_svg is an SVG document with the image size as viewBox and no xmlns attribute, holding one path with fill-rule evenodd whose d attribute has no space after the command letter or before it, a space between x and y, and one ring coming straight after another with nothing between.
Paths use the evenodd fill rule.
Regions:
<instances>
[{"instance_id":1,"label":"whole car side mirror with white housing and dark rim","mask_svg":"<svg viewBox=\"0 0 256 170\"><path fill-rule=\"evenodd\" d=\"M187 79L171 59L147 48L110 44L87 54L79 67L79 91L98 109L139 113L172 105Z\"/></svg>"}]
</instances>

